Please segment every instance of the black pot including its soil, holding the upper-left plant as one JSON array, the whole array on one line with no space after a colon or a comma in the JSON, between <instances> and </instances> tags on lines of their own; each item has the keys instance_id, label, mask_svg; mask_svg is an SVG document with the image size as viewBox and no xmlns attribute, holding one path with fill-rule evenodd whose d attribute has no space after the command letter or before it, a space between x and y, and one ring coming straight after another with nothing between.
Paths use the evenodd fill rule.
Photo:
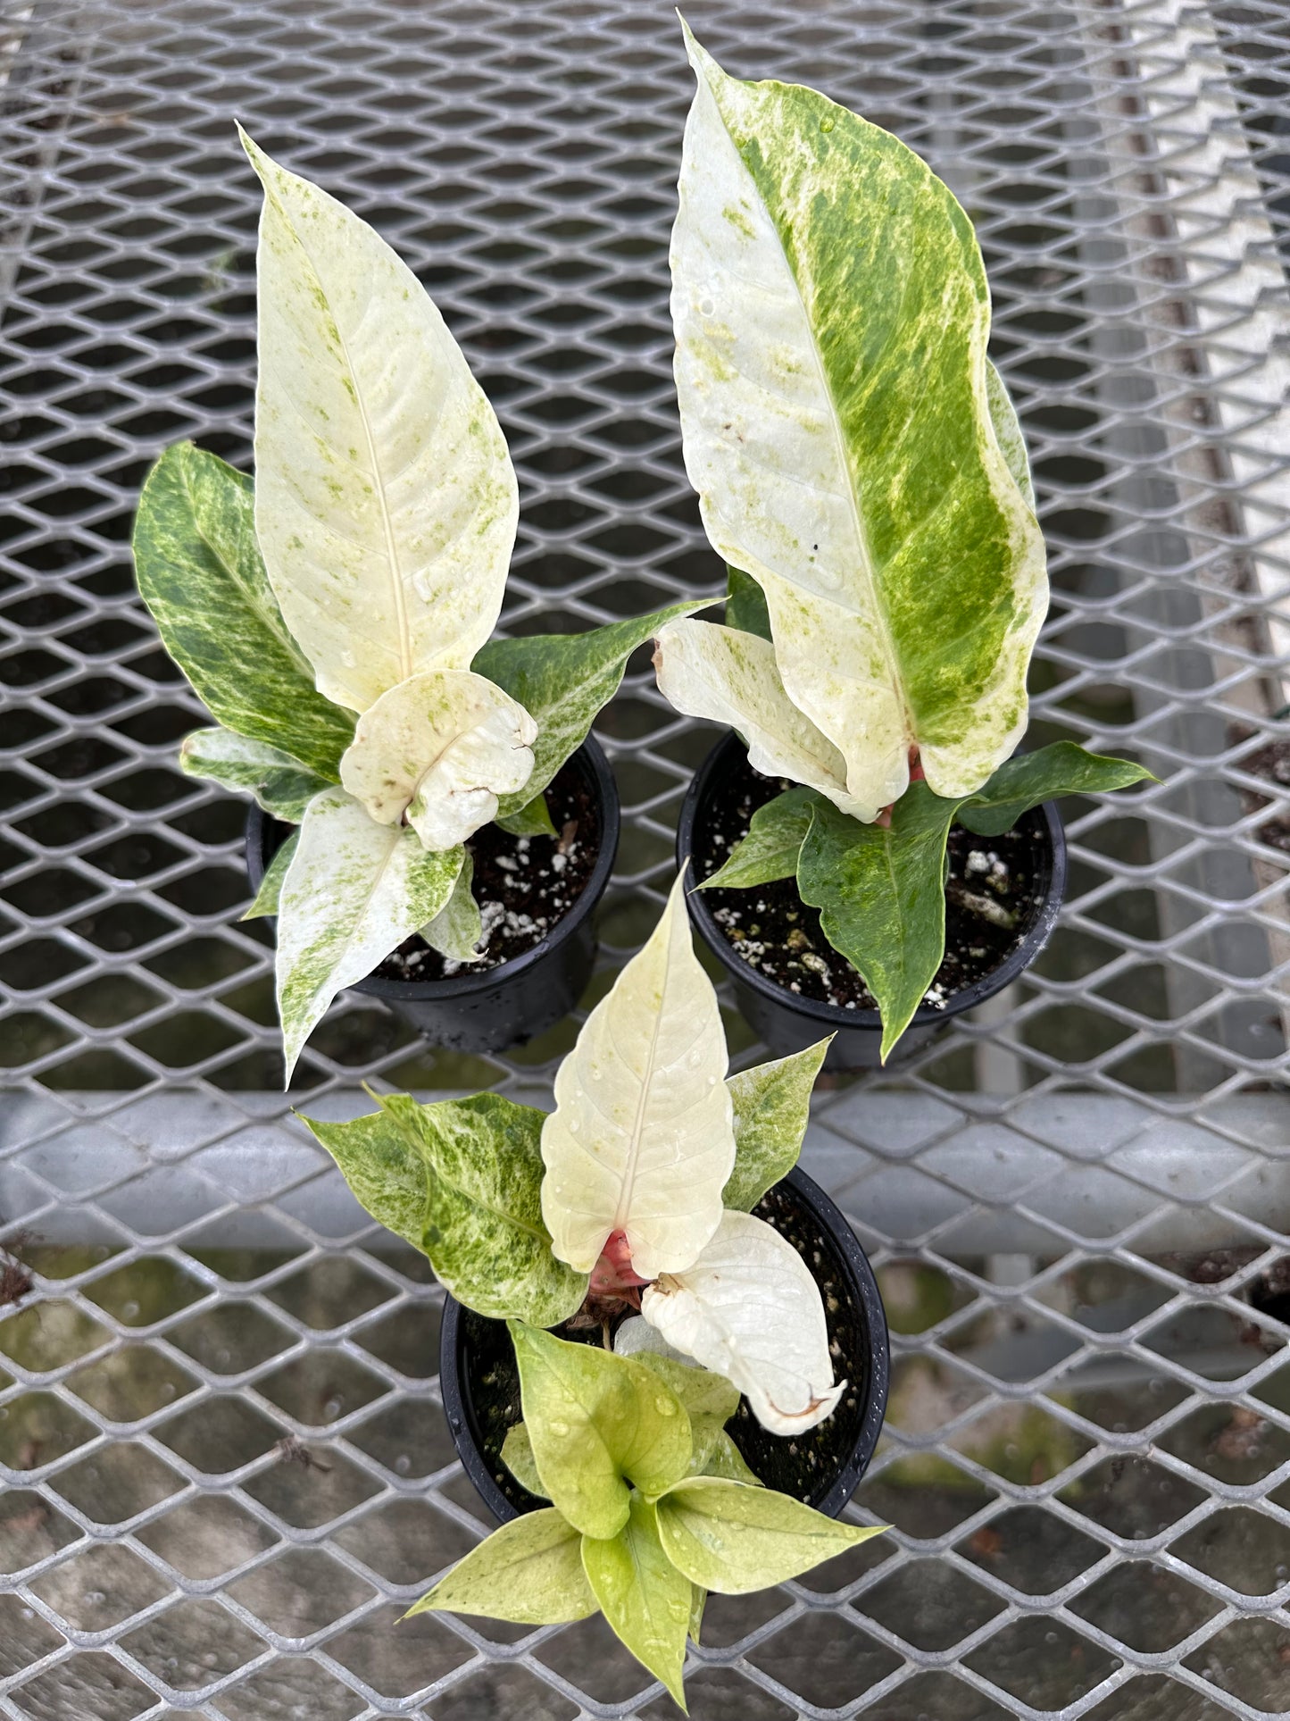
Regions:
<instances>
[{"instance_id":1,"label":"black pot including its soil, holding the upper-left plant","mask_svg":"<svg viewBox=\"0 0 1290 1721\"><path fill-rule=\"evenodd\" d=\"M592 917L617 850L617 790L593 737L556 773L547 805L557 838L511 836L485 824L466 843L488 931L482 962L452 962L413 935L349 990L382 998L451 1052L504 1052L562 1021L592 978ZM291 833L291 824L251 807L246 871L253 891Z\"/></svg>"}]
</instances>

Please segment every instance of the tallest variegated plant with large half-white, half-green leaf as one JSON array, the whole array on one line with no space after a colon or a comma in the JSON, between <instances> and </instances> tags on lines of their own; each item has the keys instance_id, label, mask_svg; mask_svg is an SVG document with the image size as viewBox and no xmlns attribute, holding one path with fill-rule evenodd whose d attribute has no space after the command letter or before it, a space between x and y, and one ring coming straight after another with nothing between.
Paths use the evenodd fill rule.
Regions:
<instances>
[{"instance_id":1,"label":"tallest variegated plant with large half-white, half-green leaf","mask_svg":"<svg viewBox=\"0 0 1290 1721\"><path fill-rule=\"evenodd\" d=\"M703 885L796 876L886 1058L944 955L951 824L998 836L1149 773L1070 742L1011 757L1047 577L968 217L877 126L686 43L676 387L731 583L724 626L660 630L659 685L798 785Z\"/></svg>"}]
</instances>

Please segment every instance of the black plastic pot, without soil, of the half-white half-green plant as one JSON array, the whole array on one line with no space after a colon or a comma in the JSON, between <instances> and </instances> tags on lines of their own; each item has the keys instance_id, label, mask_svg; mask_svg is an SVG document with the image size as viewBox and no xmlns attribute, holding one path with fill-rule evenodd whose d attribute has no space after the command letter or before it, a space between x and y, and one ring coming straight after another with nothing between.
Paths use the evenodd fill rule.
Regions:
<instances>
[{"instance_id":1,"label":"black plastic pot, without soil, of the half-white half-green plant","mask_svg":"<svg viewBox=\"0 0 1290 1721\"><path fill-rule=\"evenodd\" d=\"M769 800L772 793L777 793L779 785L771 785L769 780L762 778L748 764L748 752L738 735L728 733L707 756L686 790L676 828L676 859L678 866L686 871L690 919L703 943L729 972L734 983L734 996L748 1024L777 1057L786 1057L789 1052L802 1052L803 1046L814 1045L824 1034L834 1034L834 1041L824 1060L826 1070L877 1069L881 1062L882 1021L875 1009L845 1007L829 1003L824 998L795 993L779 979L755 969L731 947L731 938L717 919L717 904L721 898L755 898L757 888L746 891L703 891L695 888L700 879L700 873L695 867L695 855L702 855L712 847L714 821L716 824L724 823L726 843L736 835L729 828L729 799L733 786L746 778L755 778L759 783L767 785L764 799ZM1010 833L1010 840L1020 843L1025 855L1030 904L1023 924L1015 933L1013 948L1003 955L996 967L948 995L943 1003L920 1003L913 1014L913 1021L896 1043L888 1060L889 1065L925 1046L951 1017L1003 991L1004 986L1015 981L1035 960L1047 943L1056 926L1066 888L1066 838L1056 807L1046 802L1034 812L1027 812L1013 833ZM992 840L972 838L972 842L979 847L989 847ZM716 864L705 867L702 876L709 876L712 871L716 871ZM783 886L769 886L769 890L776 888L795 890L791 881L786 881ZM814 910L802 909L802 914L803 917L814 916ZM815 924L819 924L817 917ZM836 952L832 959L838 962L845 960ZM855 971L850 972L853 974Z\"/></svg>"}]
</instances>

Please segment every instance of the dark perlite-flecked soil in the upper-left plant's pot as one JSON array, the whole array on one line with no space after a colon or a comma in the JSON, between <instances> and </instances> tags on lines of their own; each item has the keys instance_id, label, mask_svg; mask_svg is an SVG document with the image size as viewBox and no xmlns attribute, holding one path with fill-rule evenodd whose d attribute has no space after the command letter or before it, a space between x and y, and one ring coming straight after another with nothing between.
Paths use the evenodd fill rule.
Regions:
<instances>
[{"instance_id":1,"label":"dark perlite-flecked soil in the upper-left plant's pot","mask_svg":"<svg viewBox=\"0 0 1290 1721\"><path fill-rule=\"evenodd\" d=\"M559 833L554 838L511 836L499 824L485 824L466 840L475 862L471 893L487 935L478 962L454 962L413 933L373 974L394 981L485 974L540 945L581 897L600 854L592 781L576 754L547 786L547 807ZM275 824L272 830L277 848L291 828Z\"/></svg>"}]
</instances>

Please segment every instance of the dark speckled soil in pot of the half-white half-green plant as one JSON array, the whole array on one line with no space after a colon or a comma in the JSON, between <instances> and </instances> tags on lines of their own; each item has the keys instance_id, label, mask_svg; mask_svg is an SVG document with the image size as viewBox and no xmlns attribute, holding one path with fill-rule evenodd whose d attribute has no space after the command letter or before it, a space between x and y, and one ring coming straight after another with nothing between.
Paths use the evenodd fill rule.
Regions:
<instances>
[{"instance_id":1,"label":"dark speckled soil in pot of the half-white half-green plant","mask_svg":"<svg viewBox=\"0 0 1290 1721\"><path fill-rule=\"evenodd\" d=\"M738 761L695 819L700 878L710 878L722 866L748 835L753 812L786 788L791 783L762 776L746 759ZM974 836L960 824L951 826L946 952L924 1003L943 1009L955 993L992 974L1022 943L1041 909L1034 876L1044 848L1044 821L1037 811L1027 812L1004 836ZM734 955L786 991L845 1010L877 1009L857 971L824 936L817 910L802 902L791 878L752 890L709 890L703 900Z\"/></svg>"}]
</instances>

